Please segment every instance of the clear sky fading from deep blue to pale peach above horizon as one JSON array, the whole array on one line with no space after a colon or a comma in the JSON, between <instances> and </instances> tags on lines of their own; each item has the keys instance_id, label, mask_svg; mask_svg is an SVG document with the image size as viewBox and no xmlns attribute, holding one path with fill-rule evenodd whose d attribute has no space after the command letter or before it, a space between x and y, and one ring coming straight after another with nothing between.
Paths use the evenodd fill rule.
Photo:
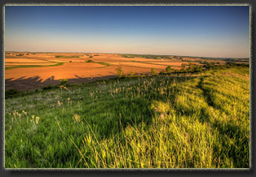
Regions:
<instances>
[{"instance_id":1,"label":"clear sky fading from deep blue to pale peach above horizon","mask_svg":"<svg viewBox=\"0 0 256 177\"><path fill-rule=\"evenodd\" d=\"M5 6L5 50L249 58L249 6Z\"/></svg>"}]
</instances>

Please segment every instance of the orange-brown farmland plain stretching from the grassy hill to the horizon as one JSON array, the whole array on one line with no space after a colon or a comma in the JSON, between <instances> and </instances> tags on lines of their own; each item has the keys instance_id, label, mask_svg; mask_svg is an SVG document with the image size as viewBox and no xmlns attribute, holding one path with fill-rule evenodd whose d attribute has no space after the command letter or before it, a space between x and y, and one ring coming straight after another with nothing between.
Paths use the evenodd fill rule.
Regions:
<instances>
[{"instance_id":1,"label":"orange-brown farmland plain stretching from the grassy hill to the horizon","mask_svg":"<svg viewBox=\"0 0 256 177\"><path fill-rule=\"evenodd\" d=\"M176 71L181 70L182 65L187 68L190 63L202 66L201 61L226 63L220 59L167 55L6 52L5 89L33 90L60 84L60 79L68 79L69 84L79 84L117 78L119 67L126 76L150 76L152 68L158 74L166 71L168 66Z\"/></svg>"}]
</instances>

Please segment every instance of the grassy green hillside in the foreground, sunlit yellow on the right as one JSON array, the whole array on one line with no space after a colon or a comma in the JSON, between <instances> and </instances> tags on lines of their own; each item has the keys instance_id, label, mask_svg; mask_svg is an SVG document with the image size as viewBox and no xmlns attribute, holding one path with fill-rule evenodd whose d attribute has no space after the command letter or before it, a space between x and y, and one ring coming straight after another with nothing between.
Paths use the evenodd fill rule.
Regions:
<instances>
[{"instance_id":1,"label":"grassy green hillside in the foreground, sunlit yellow on the right","mask_svg":"<svg viewBox=\"0 0 256 177\"><path fill-rule=\"evenodd\" d=\"M249 168L249 67L5 101L7 168Z\"/></svg>"}]
</instances>

